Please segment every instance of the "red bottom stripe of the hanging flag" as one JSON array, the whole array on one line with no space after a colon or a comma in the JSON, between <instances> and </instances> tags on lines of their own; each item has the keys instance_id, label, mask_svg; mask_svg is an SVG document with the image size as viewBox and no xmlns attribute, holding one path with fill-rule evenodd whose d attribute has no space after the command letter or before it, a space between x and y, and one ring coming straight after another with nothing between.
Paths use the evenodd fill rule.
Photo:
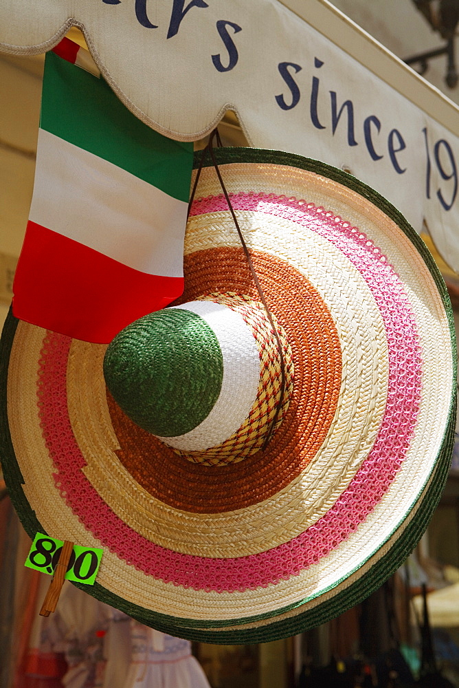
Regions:
<instances>
[{"instance_id":1,"label":"red bottom stripe of the hanging flag","mask_svg":"<svg viewBox=\"0 0 459 688\"><path fill-rule=\"evenodd\" d=\"M29 221L13 291L16 318L105 344L177 299L183 278L147 275Z\"/></svg>"}]
</instances>

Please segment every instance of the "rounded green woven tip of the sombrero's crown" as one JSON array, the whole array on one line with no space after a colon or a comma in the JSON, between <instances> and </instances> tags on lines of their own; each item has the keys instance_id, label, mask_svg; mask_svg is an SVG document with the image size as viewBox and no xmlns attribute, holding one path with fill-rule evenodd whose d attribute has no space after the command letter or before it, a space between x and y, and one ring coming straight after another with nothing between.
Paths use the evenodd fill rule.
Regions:
<instances>
[{"instance_id":1,"label":"rounded green woven tip of the sombrero's crown","mask_svg":"<svg viewBox=\"0 0 459 688\"><path fill-rule=\"evenodd\" d=\"M179 436L199 425L221 389L223 358L199 315L168 308L125 327L104 358L113 398L139 427Z\"/></svg>"}]
</instances>

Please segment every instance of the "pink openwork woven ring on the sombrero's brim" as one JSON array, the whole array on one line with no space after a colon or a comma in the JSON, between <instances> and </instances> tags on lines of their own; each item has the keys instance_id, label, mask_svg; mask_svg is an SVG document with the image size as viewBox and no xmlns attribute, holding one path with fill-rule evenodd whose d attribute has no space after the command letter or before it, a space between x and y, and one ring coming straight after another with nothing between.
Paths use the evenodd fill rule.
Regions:
<instances>
[{"instance_id":1,"label":"pink openwork woven ring on the sombrero's brim","mask_svg":"<svg viewBox=\"0 0 459 688\"><path fill-rule=\"evenodd\" d=\"M287 544L238 559L204 559L161 548L129 528L105 504L80 470L85 464L68 416L65 369L70 340L49 334L43 345L39 395L56 484L74 513L104 546L165 582L217 592L266 587L299 574L356 530L381 500L399 470L416 422L421 357L416 324L403 284L363 233L323 208L273 195L232 197L236 209L292 219L342 250L366 280L383 317L389 349L388 402L372 451L348 489L320 521ZM223 197L194 202L192 214L226 210ZM59 420L56 420L59 419Z\"/></svg>"}]
</instances>

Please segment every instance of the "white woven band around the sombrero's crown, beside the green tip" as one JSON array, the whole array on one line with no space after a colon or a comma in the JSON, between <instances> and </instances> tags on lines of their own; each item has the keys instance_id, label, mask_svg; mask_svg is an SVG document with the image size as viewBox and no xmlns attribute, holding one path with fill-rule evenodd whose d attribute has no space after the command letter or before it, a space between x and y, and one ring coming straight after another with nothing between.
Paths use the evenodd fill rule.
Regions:
<instances>
[{"instance_id":1,"label":"white woven band around the sombrero's crown, beside the green tip","mask_svg":"<svg viewBox=\"0 0 459 688\"><path fill-rule=\"evenodd\" d=\"M223 356L219 398L207 418L179 437L160 437L182 451L203 451L225 442L243 424L256 400L260 355L243 316L222 303L190 301L172 308L195 313L212 328Z\"/></svg>"}]
</instances>

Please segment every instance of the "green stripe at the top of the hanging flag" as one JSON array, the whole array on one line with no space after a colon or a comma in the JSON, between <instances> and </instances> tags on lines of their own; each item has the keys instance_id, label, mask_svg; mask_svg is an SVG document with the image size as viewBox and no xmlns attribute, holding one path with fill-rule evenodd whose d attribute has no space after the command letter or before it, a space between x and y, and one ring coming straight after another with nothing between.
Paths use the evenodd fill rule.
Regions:
<instances>
[{"instance_id":1,"label":"green stripe at the top of the hanging flag","mask_svg":"<svg viewBox=\"0 0 459 688\"><path fill-rule=\"evenodd\" d=\"M153 131L118 100L103 78L52 52L45 60L40 126L188 202L192 143Z\"/></svg>"}]
</instances>

